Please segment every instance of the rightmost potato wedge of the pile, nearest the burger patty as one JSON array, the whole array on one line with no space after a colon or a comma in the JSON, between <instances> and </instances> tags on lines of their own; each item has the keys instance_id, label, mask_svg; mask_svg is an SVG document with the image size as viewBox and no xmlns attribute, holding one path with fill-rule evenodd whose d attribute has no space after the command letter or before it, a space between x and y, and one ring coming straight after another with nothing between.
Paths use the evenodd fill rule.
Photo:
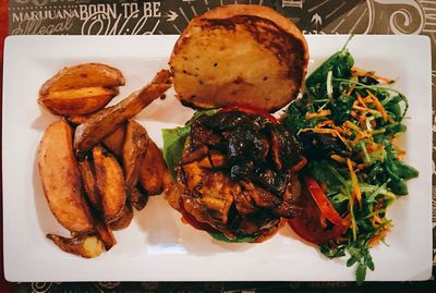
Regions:
<instances>
[{"instance_id":1,"label":"rightmost potato wedge of the pile, nearest the burger patty","mask_svg":"<svg viewBox=\"0 0 436 293\"><path fill-rule=\"evenodd\" d=\"M140 184L148 195L158 195L164 190L164 173L167 170L162 152L150 139L140 166Z\"/></svg>"}]
</instances>

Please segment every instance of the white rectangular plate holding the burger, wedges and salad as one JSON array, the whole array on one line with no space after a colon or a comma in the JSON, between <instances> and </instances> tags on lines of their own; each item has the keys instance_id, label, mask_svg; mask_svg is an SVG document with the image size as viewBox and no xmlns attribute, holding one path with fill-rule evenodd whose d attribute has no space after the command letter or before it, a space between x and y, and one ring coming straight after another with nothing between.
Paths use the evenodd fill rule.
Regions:
<instances>
[{"instance_id":1,"label":"white rectangular plate holding the burger, wedges and salad","mask_svg":"<svg viewBox=\"0 0 436 293\"><path fill-rule=\"evenodd\" d=\"M141 88L167 68L177 36L24 36L5 41L3 91L3 242L9 281L346 281L344 260L329 260L301 242L290 228L262 244L227 244L180 221L161 196L116 232L118 244L96 259L61 252L47 233L66 235L51 215L36 168L44 130L58 119L37 103L40 85L65 65L104 62L126 80L120 97ZM307 36L311 65L340 49L347 36ZM396 78L410 110L407 161L420 171L410 195L390 208L388 246L372 251L367 280L424 280L432 268L432 97L429 41L422 36L355 36L356 65ZM117 99L119 100L119 98ZM172 91L137 120L161 147L160 129L183 124L193 111Z\"/></svg>"}]
</instances>

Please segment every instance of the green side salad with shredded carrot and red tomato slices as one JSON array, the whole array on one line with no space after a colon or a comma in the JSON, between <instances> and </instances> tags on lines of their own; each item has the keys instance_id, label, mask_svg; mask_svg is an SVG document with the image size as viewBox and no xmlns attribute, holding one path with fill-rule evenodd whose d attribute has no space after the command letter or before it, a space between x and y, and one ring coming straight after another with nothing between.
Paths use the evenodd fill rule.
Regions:
<instances>
[{"instance_id":1,"label":"green side salad with shredded carrot and red tomato slices","mask_svg":"<svg viewBox=\"0 0 436 293\"><path fill-rule=\"evenodd\" d=\"M355 68L346 45L307 77L305 94L282 121L308 159L298 198L302 212L289 224L325 256L348 255L358 283L375 268L370 248L393 225L387 208L419 175L398 146L408 99L392 83Z\"/></svg>"}]
</instances>

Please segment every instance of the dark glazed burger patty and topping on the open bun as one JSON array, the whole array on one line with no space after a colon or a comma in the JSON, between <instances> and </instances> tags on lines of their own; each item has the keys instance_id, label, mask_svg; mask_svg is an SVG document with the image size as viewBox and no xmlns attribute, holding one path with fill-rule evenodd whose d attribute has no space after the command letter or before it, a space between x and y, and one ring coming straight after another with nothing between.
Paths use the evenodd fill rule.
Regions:
<instances>
[{"instance_id":1,"label":"dark glazed burger patty and topping on the open bun","mask_svg":"<svg viewBox=\"0 0 436 293\"><path fill-rule=\"evenodd\" d=\"M183 208L228 237L259 235L291 218L292 167L302 148L268 117L240 110L196 119L177 168Z\"/></svg>"}]
</instances>

